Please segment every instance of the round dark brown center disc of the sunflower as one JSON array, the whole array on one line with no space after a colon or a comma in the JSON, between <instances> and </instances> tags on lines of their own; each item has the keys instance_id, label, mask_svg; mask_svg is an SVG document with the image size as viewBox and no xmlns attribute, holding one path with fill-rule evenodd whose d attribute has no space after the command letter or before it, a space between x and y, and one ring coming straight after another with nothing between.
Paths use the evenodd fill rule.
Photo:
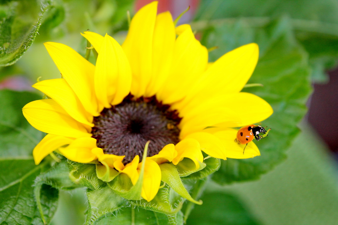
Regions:
<instances>
[{"instance_id":1,"label":"round dark brown center disc of the sunflower","mask_svg":"<svg viewBox=\"0 0 338 225\"><path fill-rule=\"evenodd\" d=\"M150 141L148 156L158 154L167 144L177 144L181 118L155 97L135 99L132 95L123 102L104 109L94 117L92 129L97 147L104 153L125 155L124 163L136 155L142 159L144 146Z\"/></svg>"}]
</instances>

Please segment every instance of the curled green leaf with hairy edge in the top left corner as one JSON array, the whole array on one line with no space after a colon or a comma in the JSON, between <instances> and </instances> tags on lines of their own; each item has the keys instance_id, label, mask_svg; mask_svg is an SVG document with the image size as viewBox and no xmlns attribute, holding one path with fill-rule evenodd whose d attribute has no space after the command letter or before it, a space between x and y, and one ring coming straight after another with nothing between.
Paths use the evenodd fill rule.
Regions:
<instances>
[{"instance_id":1,"label":"curled green leaf with hairy edge in the top left corner","mask_svg":"<svg viewBox=\"0 0 338 225\"><path fill-rule=\"evenodd\" d=\"M40 6L34 0L10 1L0 6L4 12L0 14L0 66L14 64L28 50L38 34L44 13L51 7L50 3L42 3L40 12Z\"/></svg>"}]
</instances>

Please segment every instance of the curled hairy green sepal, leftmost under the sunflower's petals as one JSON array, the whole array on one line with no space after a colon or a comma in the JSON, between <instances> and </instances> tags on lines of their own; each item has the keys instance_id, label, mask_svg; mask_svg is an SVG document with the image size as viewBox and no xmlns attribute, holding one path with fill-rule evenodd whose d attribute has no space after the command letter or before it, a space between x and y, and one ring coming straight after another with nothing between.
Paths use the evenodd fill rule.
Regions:
<instances>
[{"instance_id":1,"label":"curled hairy green sepal, leftmost under the sunflower's petals","mask_svg":"<svg viewBox=\"0 0 338 225\"><path fill-rule=\"evenodd\" d=\"M105 182L97 178L95 164L75 163L67 160L70 171L69 178L77 184L81 184L92 190L100 190Z\"/></svg>"}]
</instances>

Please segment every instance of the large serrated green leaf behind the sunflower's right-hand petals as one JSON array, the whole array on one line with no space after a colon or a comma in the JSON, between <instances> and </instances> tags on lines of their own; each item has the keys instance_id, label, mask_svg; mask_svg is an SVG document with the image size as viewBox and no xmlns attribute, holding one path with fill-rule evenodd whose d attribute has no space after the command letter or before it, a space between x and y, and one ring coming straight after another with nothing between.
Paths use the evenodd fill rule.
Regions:
<instances>
[{"instance_id":1,"label":"large serrated green leaf behind the sunflower's right-hand petals","mask_svg":"<svg viewBox=\"0 0 338 225\"><path fill-rule=\"evenodd\" d=\"M272 116L260 123L272 130L266 139L256 142L261 156L228 158L213 175L220 184L259 178L285 159L285 151L299 132L296 124L306 113L311 92L308 55L295 40L287 18L255 29L243 21L219 24L205 33L202 42L207 47L219 46L210 52L211 60L244 44L256 42L260 46L260 59L248 83L264 86L247 87L243 92L254 93L272 106Z\"/></svg>"}]
</instances>

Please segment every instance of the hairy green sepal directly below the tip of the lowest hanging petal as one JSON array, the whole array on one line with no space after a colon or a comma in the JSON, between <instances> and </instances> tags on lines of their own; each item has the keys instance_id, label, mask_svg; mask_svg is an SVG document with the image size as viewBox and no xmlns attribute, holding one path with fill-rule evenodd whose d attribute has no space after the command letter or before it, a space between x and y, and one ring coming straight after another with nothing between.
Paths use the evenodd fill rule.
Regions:
<instances>
[{"instance_id":1,"label":"hairy green sepal directly below the tip of the lowest hanging petal","mask_svg":"<svg viewBox=\"0 0 338 225\"><path fill-rule=\"evenodd\" d=\"M175 215L182 208L183 201L179 204L176 204L176 207L170 203L170 188L165 186L161 188L156 194L153 200L150 202L142 199L139 201L130 200L129 201L134 206L139 206L147 210L155 211L158 213L164 213L167 215Z\"/></svg>"}]
</instances>

